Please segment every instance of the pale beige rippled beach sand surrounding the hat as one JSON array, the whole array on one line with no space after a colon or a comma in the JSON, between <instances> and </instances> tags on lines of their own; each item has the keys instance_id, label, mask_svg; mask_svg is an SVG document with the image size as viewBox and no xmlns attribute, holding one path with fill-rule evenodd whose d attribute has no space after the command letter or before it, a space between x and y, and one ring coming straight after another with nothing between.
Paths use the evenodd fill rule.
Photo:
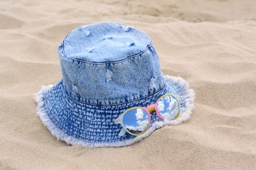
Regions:
<instances>
[{"instance_id":1,"label":"pale beige rippled beach sand surrounding the hat","mask_svg":"<svg viewBox=\"0 0 256 170\"><path fill-rule=\"evenodd\" d=\"M0 1L0 169L256 169L256 1ZM192 117L122 148L57 141L33 94L62 77L56 50L94 22L152 37L165 75L196 92Z\"/></svg>"}]
</instances>

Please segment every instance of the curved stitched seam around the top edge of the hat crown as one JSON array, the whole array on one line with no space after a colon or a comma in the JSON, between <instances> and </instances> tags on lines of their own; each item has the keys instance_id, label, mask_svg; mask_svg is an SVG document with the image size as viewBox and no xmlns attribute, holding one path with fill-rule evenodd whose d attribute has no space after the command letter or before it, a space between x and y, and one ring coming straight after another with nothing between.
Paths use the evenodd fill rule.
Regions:
<instances>
[{"instance_id":1,"label":"curved stitched seam around the top edge of the hat crown","mask_svg":"<svg viewBox=\"0 0 256 170\"><path fill-rule=\"evenodd\" d=\"M69 35L69 34L68 34ZM68 35L66 37L68 37ZM75 61L81 61L83 63L91 63L91 64L106 64L106 63L121 63L123 61L126 61L127 59L129 58L135 58L136 56L140 56L140 54L143 54L144 52L148 51L148 48L150 48L152 46L152 40L150 41L150 44L148 44L146 46L146 48L142 51L142 52L139 52L138 54L133 54L131 56L127 56L127 58L125 59L120 59L118 61L105 61L105 62L96 62L96 61L85 61L83 59L76 59L76 58L71 58L71 57L68 57L68 55L66 54L65 50L64 50L64 41L66 40L66 37L65 39L62 41L62 54L64 55L65 58L69 58L69 59L73 59Z\"/></svg>"}]
</instances>

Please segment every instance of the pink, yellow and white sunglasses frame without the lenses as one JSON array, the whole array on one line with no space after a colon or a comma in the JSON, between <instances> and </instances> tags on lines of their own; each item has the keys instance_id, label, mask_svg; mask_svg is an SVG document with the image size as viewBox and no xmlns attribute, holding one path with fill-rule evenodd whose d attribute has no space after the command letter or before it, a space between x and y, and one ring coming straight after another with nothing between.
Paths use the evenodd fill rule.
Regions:
<instances>
[{"instance_id":1,"label":"pink, yellow and white sunglasses frame without the lenses","mask_svg":"<svg viewBox=\"0 0 256 170\"><path fill-rule=\"evenodd\" d=\"M150 112L153 112L153 111L156 111L156 114L158 114L158 117L160 117L162 120L165 120L165 118L163 116L161 116L159 110L158 110L158 102L163 98L163 97L166 97L166 96L169 96L171 95L172 97L174 97L176 99L176 101L178 102L178 105L179 105L179 113L177 114L177 116L172 119L172 120L175 120L177 118L179 118L180 114L181 114L181 105L180 105L180 102L179 102L179 95L175 95L175 94L165 94L165 95L161 95L161 97L158 99L158 101L156 101L156 103L153 103L151 105L148 105L147 107L131 107L127 110L125 110L118 118L116 118L116 120L114 120L114 124L121 124L121 126L123 127L123 129L131 134L131 135L134 135L134 136L139 136L139 135L142 135L144 133L146 133L146 131L148 131L149 127L150 127L150 124L151 124L151 118L150 118ZM149 124L148 126L146 127L146 129L144 131L142 131L142 133L138 133L138 134L135 134L135 133L131 133L126 127L125 125L123 124L123 116L125 116L125 114L127 112L129 112L130 110L133 110L133 109L142 109L144 111L146 111L146 113L148 114L148 121L149 121ZM119 136L122 136L124 135L123 133L123 129L121 129L120 133L119 133Z\"/></svg>"}]
</instances>

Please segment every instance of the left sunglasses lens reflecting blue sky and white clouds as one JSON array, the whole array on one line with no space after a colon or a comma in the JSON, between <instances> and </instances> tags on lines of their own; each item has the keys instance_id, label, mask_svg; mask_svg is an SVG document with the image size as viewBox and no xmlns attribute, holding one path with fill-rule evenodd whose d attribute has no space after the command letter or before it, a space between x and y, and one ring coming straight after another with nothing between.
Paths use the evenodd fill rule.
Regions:
<instances>
[{"instance_id":1,"label":"left sunglasses lens reflecting blue sky and white clouds","mask_svg":"<svg viewBox=\"0 0 256 170\"><path fill-rule=\"evenodd\" d=\"M144 132L149 124L148 114L145 110L137 108L129 110L123 116L123 124L126 129L133 134Z\"/></svg>"}]
</instances>

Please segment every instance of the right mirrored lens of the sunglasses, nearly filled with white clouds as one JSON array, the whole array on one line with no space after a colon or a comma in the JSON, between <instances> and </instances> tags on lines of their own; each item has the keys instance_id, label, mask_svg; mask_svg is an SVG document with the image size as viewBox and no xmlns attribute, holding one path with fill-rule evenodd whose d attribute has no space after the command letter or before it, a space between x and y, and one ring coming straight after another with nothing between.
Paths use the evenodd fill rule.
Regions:
<instances>
[{"instance_id":1,"label":"right mirrored lens of the sunglasses, nearly filled with white clouds","mask_svg":"<svg viewBox=\"0 0 256 170\"><path fill-rule=\"evenodd\" d=\"M167 120L177 118L179 109L179 103L172 95L166 95L158 101L158 111L161 116L163 116L163 118L167 118Z\"/></svg>"}]
</instances>

